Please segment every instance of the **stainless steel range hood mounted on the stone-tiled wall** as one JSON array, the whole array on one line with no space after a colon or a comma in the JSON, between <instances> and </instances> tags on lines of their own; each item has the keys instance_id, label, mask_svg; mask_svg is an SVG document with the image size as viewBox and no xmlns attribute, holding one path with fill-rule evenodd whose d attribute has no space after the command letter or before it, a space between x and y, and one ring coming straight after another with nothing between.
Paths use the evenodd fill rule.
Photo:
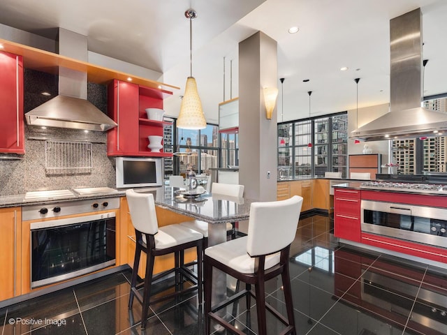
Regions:
<instances>
[{"instance_id":1,"label":"stainless steel range hood mounted on the stone-tiled wall","mask_svg":"<svg viewBox=\"0 0 447 335\"><path fill-rule=\"evenodd\" d=\"M59 54L87 61L87 37L59 29ZM59 95L25 114L27 124L89 131L117 126L87 101L87 73L59 67Z\"/></svg>"}]
</instances>

